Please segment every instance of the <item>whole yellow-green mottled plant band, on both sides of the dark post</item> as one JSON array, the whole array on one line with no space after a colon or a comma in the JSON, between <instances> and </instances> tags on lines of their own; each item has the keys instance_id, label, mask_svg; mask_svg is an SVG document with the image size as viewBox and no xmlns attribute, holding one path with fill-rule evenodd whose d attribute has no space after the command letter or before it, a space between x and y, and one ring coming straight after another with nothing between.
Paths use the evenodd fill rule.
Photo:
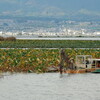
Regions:
<instances>
[{"instance_id":1,"label":"whole yellow-green mottled plant band, on both sides of the dark post","mask_svg":"<svg viewBox=\"0 0 100 100\"><path fill-rule=\"evenodd\" d=\"M60 49L0 49L0 70L11 72L46 72L60 63ZM100 58L100 49L66 49L75 60L76 55Z\"/></svg>"}]
</instances>

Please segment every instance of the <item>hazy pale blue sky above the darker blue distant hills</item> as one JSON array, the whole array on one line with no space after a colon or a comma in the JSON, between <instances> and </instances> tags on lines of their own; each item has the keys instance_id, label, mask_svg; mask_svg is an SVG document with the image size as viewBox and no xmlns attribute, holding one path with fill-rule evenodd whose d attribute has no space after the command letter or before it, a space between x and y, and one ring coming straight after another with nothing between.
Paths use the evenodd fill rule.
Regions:
<instances>
[{"instance_id":1,"label":"hazy pale blue sky above the darker blue distant hills","mask_svg":"<svg viewBox=\"0 0 100 100\"><path fill-rule=\"evenodd\" d=\"M0 0L0 15L100 16L100 0Z\"/></svg>"}]
</instances>

